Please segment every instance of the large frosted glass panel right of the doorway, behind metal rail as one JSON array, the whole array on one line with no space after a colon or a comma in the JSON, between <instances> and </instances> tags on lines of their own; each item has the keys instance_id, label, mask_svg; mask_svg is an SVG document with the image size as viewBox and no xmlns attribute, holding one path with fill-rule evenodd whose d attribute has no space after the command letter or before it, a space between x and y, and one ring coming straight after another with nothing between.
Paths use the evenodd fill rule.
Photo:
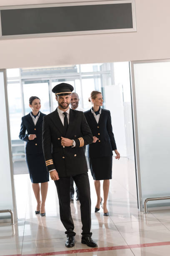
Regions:
<instances>
[{"instance_id":1,"label":"large frosted glass panel right of the doorway, behind metal rail","mask_svg":"<svg viewBox=\"0 0 170 256\"><path fill-rule=\"evenodd\" d=\"M170 62L134 64L142 198L170 193ZM141 202L142 203L142 202ZM150 205L169 205L154 201Z\"/></svg>"}]
</instances>

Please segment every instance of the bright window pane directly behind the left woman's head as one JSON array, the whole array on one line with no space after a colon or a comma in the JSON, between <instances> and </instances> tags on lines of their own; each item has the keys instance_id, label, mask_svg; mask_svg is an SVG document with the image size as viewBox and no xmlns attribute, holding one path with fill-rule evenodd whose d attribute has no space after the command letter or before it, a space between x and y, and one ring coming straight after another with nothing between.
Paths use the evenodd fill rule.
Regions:
<instances>
[{"instance_id":1,"label":"bright window pane directly behind the left woman's head","mask_svg":"<svg viewBox=\"0 0 170 256\"><path fill-rule=\"evenodd\" d=\"M29 98L31 96L37 96L41 100L41 109L40 111L44 114L50 113L50 100L49 100L49 90L47 82L27 82L23 84L24 92L24 106L25 106L25 115L30 113L29 107Z\"/></svg>"}]
</instances>

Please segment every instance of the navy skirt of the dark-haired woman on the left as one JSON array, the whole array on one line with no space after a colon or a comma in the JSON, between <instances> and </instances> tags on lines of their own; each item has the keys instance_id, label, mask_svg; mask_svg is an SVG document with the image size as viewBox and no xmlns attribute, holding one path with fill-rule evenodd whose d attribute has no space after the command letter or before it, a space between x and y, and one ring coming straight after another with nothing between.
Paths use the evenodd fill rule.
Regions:
<instances>
[{"instance_id":1,"label":"navy skirt of the dark-haired woman on the left","mask_svg":"<svg viewBox=\"0 0 170 256\"><path fill-rule=\"evenodd\" d=\"M49 181L49 172L47 172L43 154L26 154L26 161L32 183L43 183Z\"/></svg>"}]
</instances>

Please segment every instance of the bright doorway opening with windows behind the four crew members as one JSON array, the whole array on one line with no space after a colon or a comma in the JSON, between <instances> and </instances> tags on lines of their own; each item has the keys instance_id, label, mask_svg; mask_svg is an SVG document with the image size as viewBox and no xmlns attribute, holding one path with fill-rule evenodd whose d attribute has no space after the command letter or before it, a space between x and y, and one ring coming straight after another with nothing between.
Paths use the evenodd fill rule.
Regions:
<instances>
[{"instance_id":1,"label":"bright doorway opening with windows behind the four crew members","mask_svg":"<svg viewBox=\"0 0 170 256\"><path fill-rule=\"evenodd\" d=\"M90 92L102 92L103 108L110 110L113 133L124 168L122 174L117 175L117 163L113 161L113 177L116 174L120 185L137 200L129 62L7 69L14 174L28 175L25 142L20 141L18 135L21 117L30 112L29 97L40 97L41 112L48 114L57 108L52 87L61 82L73 85L74 92L80 98L79 106L84 110L91 108L88 102ZM126 176L126 184L123 176Z\"/></svg>"}]
</instances>

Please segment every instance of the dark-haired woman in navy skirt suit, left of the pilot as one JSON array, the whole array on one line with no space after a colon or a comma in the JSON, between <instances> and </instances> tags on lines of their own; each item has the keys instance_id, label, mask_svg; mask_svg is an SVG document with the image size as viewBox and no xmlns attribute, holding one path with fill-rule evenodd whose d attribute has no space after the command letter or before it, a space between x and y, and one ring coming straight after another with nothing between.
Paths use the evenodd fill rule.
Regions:
<instances>
[{"instance_id":1,"label":"dark-haired woman in navy skirt suit, left of the pilot","mask_svg":"<svg viewBox=\"0 0 170 256\"><path fill-rule=\"evenodd\" d=\"M42 121L45 114L40 112L41 103L38 97L30 97L29 103L32 112L22 117L19 138L26 141L26 161L32 189L37 200L35 214L40 213L41 216L45 216L45 200L49 181L49 173L47 172L42 151ZM39 183L41 183L41 187ZM42 201L40 199L40 191Z\"/></svg>"}]
</instances>

